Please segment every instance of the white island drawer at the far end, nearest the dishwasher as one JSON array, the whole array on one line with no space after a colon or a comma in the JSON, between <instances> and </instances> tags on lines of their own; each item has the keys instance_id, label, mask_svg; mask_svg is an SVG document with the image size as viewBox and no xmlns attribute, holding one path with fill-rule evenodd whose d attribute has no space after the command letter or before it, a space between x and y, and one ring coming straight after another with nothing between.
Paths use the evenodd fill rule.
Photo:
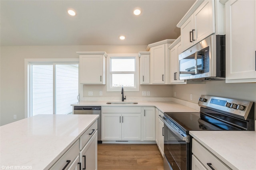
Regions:
<instances>
[{"instance_id":1,"label":"white island drawer at the far end, nearest the dishwasher","mask_svg":"<svg viewBox=\"0 0 256 170\"><path fill-rule=\"evenodd\" d=\"M98 121L98 120L97 120ZM96 132L98 128L98 122L95 121L85 132L84 134L79 138L79 149L82 150L84 145L89 141L90 137Z\"/></svg>"}]
</instances>

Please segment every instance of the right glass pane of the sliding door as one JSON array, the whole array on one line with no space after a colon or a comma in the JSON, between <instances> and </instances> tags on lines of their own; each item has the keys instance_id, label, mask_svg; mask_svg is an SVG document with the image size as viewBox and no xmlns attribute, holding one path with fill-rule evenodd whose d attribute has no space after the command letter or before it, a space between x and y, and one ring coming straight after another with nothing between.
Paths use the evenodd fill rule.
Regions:
<instances>
[{"instance_id":1,"label":"right glass pane of the sliding door","mask_svg":"<svg viewBox=\"0 0 256 170\"><path fill-rule=\"evenodd\" d=\"M78 64L56 65L56 114L71 113L77 95Z\"/></svg>"}]
</instances>

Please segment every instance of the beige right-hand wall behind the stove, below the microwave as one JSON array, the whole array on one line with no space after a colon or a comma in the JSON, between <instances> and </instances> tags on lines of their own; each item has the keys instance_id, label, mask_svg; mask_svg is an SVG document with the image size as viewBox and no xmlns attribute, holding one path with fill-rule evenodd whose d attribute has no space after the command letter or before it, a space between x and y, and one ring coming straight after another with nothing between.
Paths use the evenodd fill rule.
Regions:
<instances>
[{"instance_id":1,"label":"beige right-hand wall behind the stove, below the microwave","mask_svg":"<svg viewBox=\"0 0 256 170\"><path fill-rule=\"evenodd\" d=\"M205 84L179 84L172 86L172 92L172 96L176 92L175 98L193 103L198 103L201 94L256 102L256 83L225 83L222 80L208 81ZM190 100L190 94L193 95L193 100ZM256 120L256 109L254 119Z\"/></svg>"}]
</instances>

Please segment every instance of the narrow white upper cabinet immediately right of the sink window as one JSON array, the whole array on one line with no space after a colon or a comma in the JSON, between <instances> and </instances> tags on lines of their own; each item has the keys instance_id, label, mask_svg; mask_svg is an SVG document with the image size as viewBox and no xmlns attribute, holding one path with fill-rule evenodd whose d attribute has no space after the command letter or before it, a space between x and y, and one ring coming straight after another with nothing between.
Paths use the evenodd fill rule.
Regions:
<instances>
[{"instance_id":1,"label":"narrow white upper cabinet immediately right of the sink window","mask_svg":"<svg viewBox=\"0 0 256 170\"><path fill-rule=\"evenodd\" d=\"M140 84L150 84L150 52L139 52L140 57Z\"/></svg>"}]
</instances>

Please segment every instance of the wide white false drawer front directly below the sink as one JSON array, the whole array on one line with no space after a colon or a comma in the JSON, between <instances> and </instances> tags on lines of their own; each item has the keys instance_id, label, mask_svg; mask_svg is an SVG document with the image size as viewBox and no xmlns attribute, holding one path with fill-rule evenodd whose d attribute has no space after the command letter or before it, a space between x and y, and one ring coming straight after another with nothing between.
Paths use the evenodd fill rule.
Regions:
<instances>
[{"instance_id":1,"label":"wide white false drawer front directly below the sink","mask_svg":"<svg viewBox=\"0 0 256 170\"><path fill-rule=\"evenodd\" d=\"M102 107L102 113L141 113L141 107Z\"/></svg>"}]
</instances>

